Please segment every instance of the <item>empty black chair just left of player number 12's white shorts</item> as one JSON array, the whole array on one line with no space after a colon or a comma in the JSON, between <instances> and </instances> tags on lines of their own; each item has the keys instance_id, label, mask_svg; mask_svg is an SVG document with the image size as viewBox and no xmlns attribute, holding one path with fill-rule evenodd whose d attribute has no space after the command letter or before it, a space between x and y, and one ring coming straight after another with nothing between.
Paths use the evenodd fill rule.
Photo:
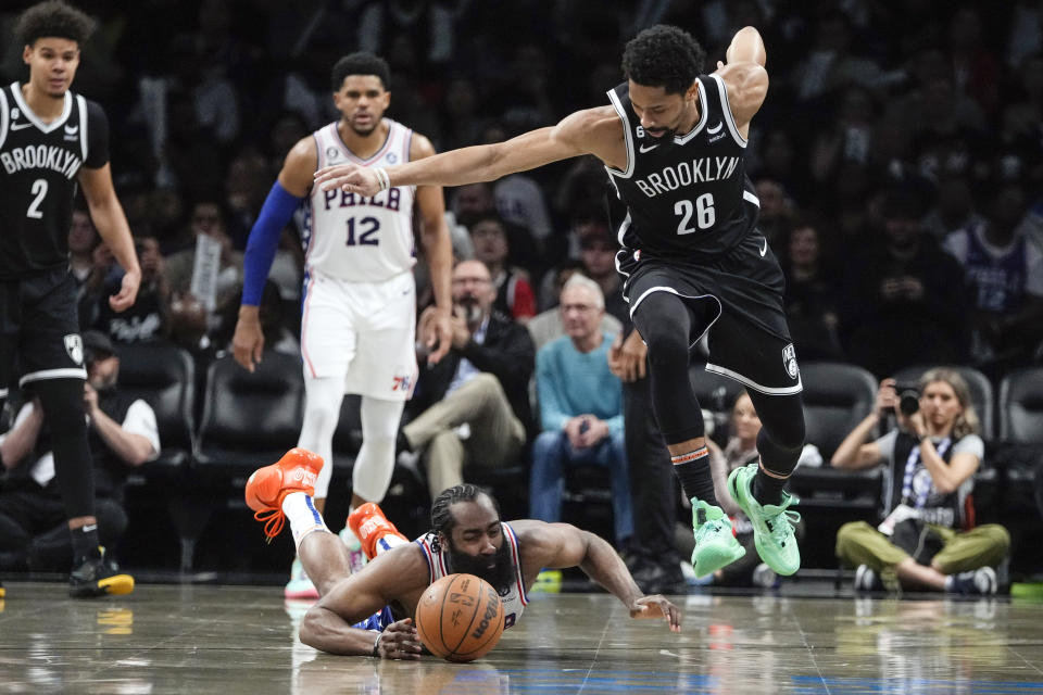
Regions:
<instances>
[{"instance_id":1,"label":"empty black chair just left of player number 12's white shorts","mask_svg":"<svg viewBox=\"0 0 1043 695\"><path fill-rule=\"evenodd\" d=\"M297 445L304 409L301 359L266 352L253 374L231 355L206 372L196 465L206 477L246 477Z\"/></svg>"}]
</instances>

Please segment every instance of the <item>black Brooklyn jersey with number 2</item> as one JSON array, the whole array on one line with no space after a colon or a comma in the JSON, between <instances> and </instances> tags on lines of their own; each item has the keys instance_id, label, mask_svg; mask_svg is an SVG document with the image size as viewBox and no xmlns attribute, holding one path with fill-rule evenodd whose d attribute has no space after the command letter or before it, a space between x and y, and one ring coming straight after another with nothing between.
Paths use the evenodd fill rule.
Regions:
<instances>
[{"instance_id":1,"label":"black Brooklyn jersey with number 2","mask_svg":"<svg viewBox=\"0 0 1043 695\"><path fill-rule=\"evenodd\" d=\"M109 162L101 106L65 92L62 114L45 124L17 83L0 89L0 279L68 263L68 227L80 166Z\"/></svg>"}]
</instances>

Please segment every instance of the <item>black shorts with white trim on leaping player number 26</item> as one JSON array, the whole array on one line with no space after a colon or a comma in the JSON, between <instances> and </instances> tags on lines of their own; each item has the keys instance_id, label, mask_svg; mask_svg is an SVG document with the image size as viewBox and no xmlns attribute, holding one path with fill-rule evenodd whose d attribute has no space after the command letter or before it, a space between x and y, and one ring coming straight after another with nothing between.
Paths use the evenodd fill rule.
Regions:
<instances>
[{"instance_id":1,"label":"black shorts with white trim on leaping player number 26","mask_svg":"<svg viewBox=\"0 0 1043 695\"><path fill-rule=\"evenodd\" d=\"M712 262L642 260L636 252L619 267L631 317L653 292L684 301L693 316L691 345L707 337L707 371L769 395L802 391L782 306L786 279L763 235L747 235Z\"/></svg>"}]
</instances>

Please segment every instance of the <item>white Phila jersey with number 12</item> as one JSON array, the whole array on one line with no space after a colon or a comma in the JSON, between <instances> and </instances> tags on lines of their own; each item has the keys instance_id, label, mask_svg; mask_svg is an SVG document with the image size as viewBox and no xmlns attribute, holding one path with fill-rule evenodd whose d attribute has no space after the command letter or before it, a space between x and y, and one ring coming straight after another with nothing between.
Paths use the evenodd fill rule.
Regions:
<instances>
[{"instance_id":1,"label":"white Phila jersey with number 12","mask_svg":"<svg viewBox=\"0 0 1043 695\"><path fill-rule=\"evenodd\" d=\"M413 131L385 118L390 126L380 151L361 160L344 144L337 122L313 135L318 149L318 168L330 164L392 166L410 160ZM413 255L413 201L415 186L380 191L373 198L323 191L312 187L304 222L305 270L349 282L380 282L410 270Z\"/></svg>"}]
</instances>

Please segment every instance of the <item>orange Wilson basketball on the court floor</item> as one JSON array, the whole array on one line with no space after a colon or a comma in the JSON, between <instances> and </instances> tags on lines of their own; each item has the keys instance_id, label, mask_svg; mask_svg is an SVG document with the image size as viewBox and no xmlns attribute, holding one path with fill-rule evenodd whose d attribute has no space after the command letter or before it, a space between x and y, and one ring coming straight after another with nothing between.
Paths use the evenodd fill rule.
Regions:
<instances>
[{"instance_id":1,"label":"orange Wilson basketball on the court floor","mask_svg":"<svg viewBox=\"0 0 1043 695\"><path fill-rule=\"evenodd\" d=\"M416 632L435 656L449 661L481 658L503 634L500 594L474 574L443 577L416 604Z\"/></svg>"}]
</instances>

